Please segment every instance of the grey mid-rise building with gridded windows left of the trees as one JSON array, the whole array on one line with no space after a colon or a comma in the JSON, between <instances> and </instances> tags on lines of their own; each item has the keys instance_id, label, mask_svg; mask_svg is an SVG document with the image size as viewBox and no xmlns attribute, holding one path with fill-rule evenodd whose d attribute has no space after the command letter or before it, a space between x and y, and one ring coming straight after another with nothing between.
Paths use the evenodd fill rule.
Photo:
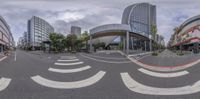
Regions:
<instances>
[{"instance_id":1,"label":"grey mid-rise building with gridded windows left of the trees","mask_svg":"<svg viewBox=\"0 0 200 99\"><path fill-rule=\"evenodd\" d=\"M28 20L27 32L29 46L31 46L33 50L37 50L40 49L43 41L49 40L49 34L54 32L54 28L45 20L33 16Z\"/></svg>"}]
</instances>

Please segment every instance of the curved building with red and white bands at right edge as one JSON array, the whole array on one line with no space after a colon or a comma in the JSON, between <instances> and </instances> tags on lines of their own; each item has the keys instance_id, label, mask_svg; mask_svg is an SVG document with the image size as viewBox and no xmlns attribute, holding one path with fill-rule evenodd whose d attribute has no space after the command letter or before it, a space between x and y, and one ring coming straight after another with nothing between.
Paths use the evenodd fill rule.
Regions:
<instances>
[{"instance_id":1,"label":"curved building with red and white bands at right edge","mask_svg":"<svg viewBox=\"0 0 200 99\"><path fill-rule=\"evenodd\" d=\"M189 18L174 31L168 43L169 47L199 52L200 15Z\"/></svg>"}]
</instances>

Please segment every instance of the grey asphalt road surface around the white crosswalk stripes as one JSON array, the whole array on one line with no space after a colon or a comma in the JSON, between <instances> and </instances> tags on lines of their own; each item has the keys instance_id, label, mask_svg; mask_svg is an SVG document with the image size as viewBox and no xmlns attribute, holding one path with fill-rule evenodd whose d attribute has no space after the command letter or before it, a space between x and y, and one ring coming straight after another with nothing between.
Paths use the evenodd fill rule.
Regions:
<instances>
[{"instance_id":1,"label":"grey asphalt road surface around the white crosswalk stripes","mask_svg":"<svg viewBox=\"0 0 200 99\"><path fill-rule=\"evenodd\" d=\"M16 55L16 58L15 58ZM66 60L74 56L78 65L69 65ZM73 59L71 59L73 60ZM55 65L55 63L68 64L68 66ZM49 68L75 69L90 66L89 69L73 73L57 73L49 71ZM7 59L0 62L0 77L10 78L7 88L0 91L0 99L199 99L200 92L188 95L148 95L129 90L120 75L127 72L137 82L158 88L176 88L192 85L200 80L200 64L186 69L189 74L173 78L159 78L146 75L138 69L141 67L134 64L125 56L120 54L43 54L37 52L24 52L17 50ZM90 80L87 86L82 82L97 75L100 71L105 74L98 80ZM71 86L59 86L52 83L52 88L48 84L45 86L37 83L32 77L46 78L57 82L75 82ZM98 76L98 75L97 75ZM42 80L39 80L42 81ZM80 88L73 88L73 86ZM1 84L0 84L1 86ZM82 87L81 87L82 86ZM70 87L70 88L68 88Z\"/></svg>"}]
</instances>

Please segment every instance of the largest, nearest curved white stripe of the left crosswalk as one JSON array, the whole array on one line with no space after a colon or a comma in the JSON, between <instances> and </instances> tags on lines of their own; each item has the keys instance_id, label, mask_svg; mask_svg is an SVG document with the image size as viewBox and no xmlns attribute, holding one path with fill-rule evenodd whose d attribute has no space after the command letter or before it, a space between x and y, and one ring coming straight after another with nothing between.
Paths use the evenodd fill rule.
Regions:
<instances>
[{"instance_id":1,"label":"largest, nearest curved white stripe of the left crosswalk","mask_svg":"<svg viewBox=\"0 0 200 99\"><path fill-rule=\"evenodd\" d=\"M97 74L95 74L94 76L90 78L80 80L80 81L74 81L74 82L53 81L53 80L43 78L39 75L31 77L31 79L42 86L46 86L50 88L75 89L75 88L87 87L87 86L97 83L99 80L103 78L105 73L106 72L104 71L99 71Z\"/></svg>"}]
</instances>

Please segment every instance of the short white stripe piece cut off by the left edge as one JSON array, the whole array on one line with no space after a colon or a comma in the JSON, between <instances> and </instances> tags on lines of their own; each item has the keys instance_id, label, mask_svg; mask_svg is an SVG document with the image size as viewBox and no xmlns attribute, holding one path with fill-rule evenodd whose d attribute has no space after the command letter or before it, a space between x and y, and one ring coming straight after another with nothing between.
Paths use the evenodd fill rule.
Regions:
<instances>
[{"instance_id":1,"label":"short white stripe piece cut off by the left edge","mask_svg":"<svg viewBox=\"0 0 200 99\"><path fill-rule=\"evenodd\" d=\"M11 79L10 78L1 78L0 79L0 91L6 89L8 85L10 84Z\"/></svg>"}]
</instances>

